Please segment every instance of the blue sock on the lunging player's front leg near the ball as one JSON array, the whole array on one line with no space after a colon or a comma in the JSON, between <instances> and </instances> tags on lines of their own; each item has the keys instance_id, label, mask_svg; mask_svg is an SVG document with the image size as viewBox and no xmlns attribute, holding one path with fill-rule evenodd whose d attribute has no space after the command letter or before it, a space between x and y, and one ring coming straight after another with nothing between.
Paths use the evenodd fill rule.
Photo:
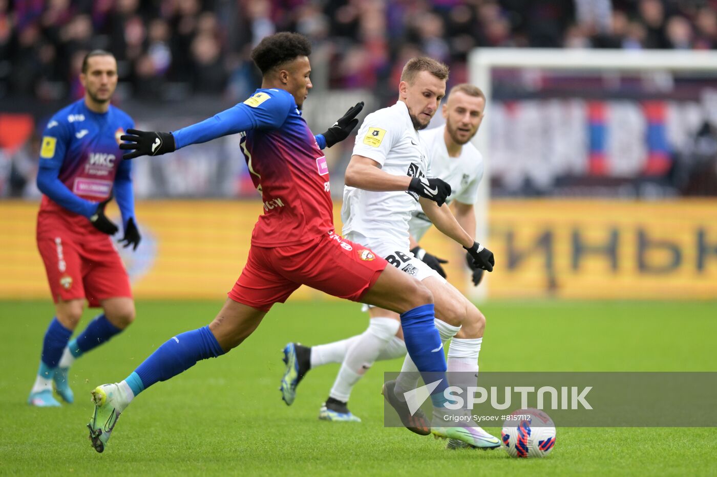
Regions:
<instances>
[{"instance_id":1,"label":"blue sock on the lunging player's front leg near the ball","mask_svg":"<svg viewBox=\"0 0 717 477\"><path fill-rule=\"evenodd\" d=\"M401 327L404 332L406 349L421 373L423 382L429 384L441 380L433 390L431 400L433 405L442 406L446 402L443 391L448 387L447 367L445 355L443 355L443 344L433 323L434 319L433 304L424 304L402 314Z\"/></svg>"}]
</instances>

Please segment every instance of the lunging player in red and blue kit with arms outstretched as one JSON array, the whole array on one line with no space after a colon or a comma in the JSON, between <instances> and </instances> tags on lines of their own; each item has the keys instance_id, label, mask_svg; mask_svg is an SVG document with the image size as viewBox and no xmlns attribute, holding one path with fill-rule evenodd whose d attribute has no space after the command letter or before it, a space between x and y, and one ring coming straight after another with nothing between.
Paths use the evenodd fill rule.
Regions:
<instances>
[{"instance_id":1,"label":"lunging player in red and blue kit with arms outstretched","mask_svg":"<svg viewBox=\"0 0 717 477\"><path fill-rule=\"evenodd\" d=\"M412 276L386 267L387 262L371 250L334 232L328 167L321 150L348 136L362 105L348 110L326 133L311 133L301 116L312 87L310 51L308 39L300 34L266 37L252 51L262 72L262 87L249 99L174 133L129 130L122 137L127 143L121 148L133 150L125 155L130 159L241 134L242 153L264 210L252 232L247 264L217 317L208 326L169 339L125 380L92 391L95 413L88 427L98 452L104 450L120 413L136 395L199 360L237 347L272 304L285 302L301 284L401 314L409 355L425 382L439 380L432 403L436 408L446 403L446 363L443 352L437 352L441 341L433 322L432 294ZM445 201L445 196L431 198ZM298 375L287 379L298 380ZM419 433L430 433L425 416L412 416L405 402L402 409L404 423Z\"/></svg>"}]
</instances>

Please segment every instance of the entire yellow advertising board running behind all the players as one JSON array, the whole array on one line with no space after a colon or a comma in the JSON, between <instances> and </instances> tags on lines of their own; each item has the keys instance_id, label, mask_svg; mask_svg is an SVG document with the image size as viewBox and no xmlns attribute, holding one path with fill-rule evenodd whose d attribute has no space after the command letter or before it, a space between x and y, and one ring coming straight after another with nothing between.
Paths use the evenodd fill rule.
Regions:
<instances>
[{"instance_id":1,"label":"entire yellow advertising board running behind all the players","mask_svg":"<svg viewBox=\"0 0 717 477\"><path fill-rule=\"evenodd\" d=\"M0 201L0 299L49 299L37 207ZM136 252L120 249L135 296L223 300L262 204L146 201L136 209L143 241ZM116 208L108 213L118 218ZM489 217L491 298L717 299L717 201L493 201ZM469 291L460 247L435 229L422 245L449 259L450 281ZM293 299L320 297L301 287Z\"/></svg>"}]
</instances>

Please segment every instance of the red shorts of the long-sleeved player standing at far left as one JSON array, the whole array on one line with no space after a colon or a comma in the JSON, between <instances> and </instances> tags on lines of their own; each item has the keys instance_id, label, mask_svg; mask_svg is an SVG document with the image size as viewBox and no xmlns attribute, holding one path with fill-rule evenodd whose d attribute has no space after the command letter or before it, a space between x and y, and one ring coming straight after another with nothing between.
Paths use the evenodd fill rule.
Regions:
<instances>
[{"instance_id":1,"label":"red shorts of the long-sleeved player standing at far left","mask_svg":"<svg viewBox=\"0 0 717 477\"><path fill-rule=\"evenodd\" d=\"M54 227L38 230L37 248L55 303L87 298L90 307L99 307L103 299L132 297L129 276L110 236L77 236Z\"/></svg>"}]
</instances>

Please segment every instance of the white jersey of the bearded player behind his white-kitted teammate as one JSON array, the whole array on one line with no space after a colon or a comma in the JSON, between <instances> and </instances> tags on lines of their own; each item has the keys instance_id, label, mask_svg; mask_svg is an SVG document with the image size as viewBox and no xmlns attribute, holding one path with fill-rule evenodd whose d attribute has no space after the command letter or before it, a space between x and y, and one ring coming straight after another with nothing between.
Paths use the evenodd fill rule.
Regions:
<instances>
[{"instance_id":1,"label":"white jersey of the bearded player behind his white-kitted teammate","mask_svg":"<svg viewBox=\"0 0 717 477\"><path fill-rule=\"evenodd\" d=\"M448 155L443 138L445 126L423 130L419 133L427 145L431 161L431 177L437 177L450 184L451 193L446 203L452 201L475 203L478 201L478 183L483 178L483 155L471 143L463 145L460 155ZM432 223L419 204L409 221L411 235L419 241Z\"/></svg>"}]
</instances>

